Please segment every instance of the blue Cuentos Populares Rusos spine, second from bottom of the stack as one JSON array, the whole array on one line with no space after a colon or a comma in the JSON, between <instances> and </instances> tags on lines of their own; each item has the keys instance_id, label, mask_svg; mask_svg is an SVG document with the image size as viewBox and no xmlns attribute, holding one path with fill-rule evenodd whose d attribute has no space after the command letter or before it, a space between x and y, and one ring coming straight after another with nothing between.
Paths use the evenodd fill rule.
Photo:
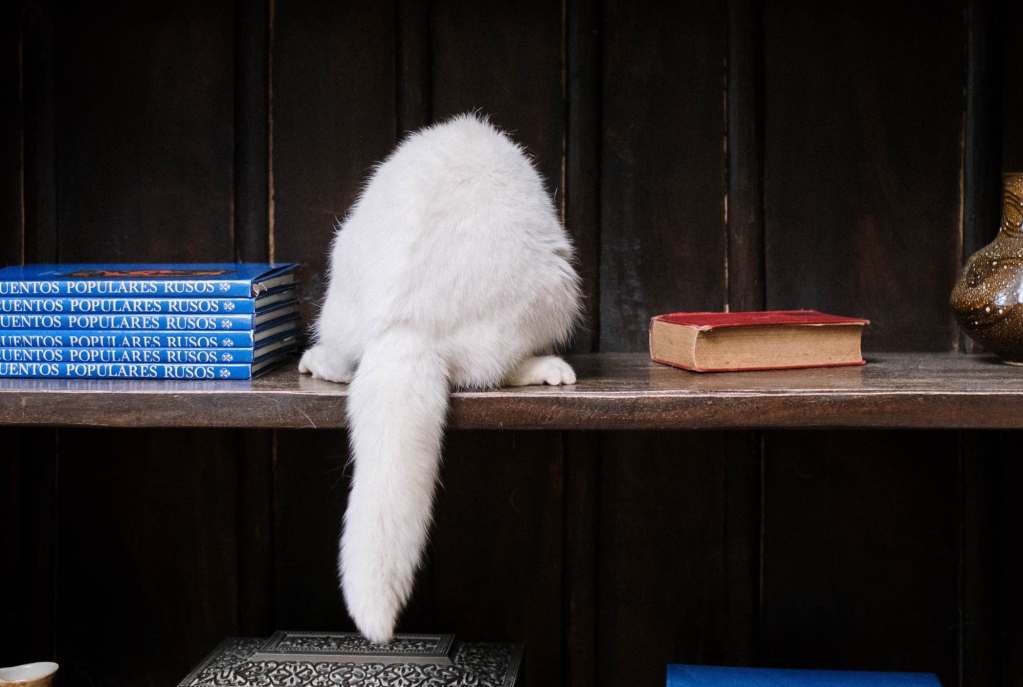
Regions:
<instances>
[{"instance_id":1,"label":"blue Cuentos Populares Rusos spine, second from bottom of the stack","mask_svg":"<svg viewBox=\"0 0 1023 687\"><path fill-rule=\"evenodd\" d=\"M0 363L164 363L213 365L253 362L252 349L4 349Z\"/></svg>"}]
</instances>

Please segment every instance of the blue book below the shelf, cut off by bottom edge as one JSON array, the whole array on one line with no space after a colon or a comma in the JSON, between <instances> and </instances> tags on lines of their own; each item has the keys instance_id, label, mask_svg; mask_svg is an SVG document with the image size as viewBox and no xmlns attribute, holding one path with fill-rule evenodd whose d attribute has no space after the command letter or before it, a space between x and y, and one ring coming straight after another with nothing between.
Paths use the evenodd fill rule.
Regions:
<instances>
[{"instance_id":1,"label":"blue book below the shelf, cut off by bottom edge","mask_svg":"<svg viewBox=\"0 0 1023 687\"><path fill-rule=\"evenodd\" d=\"M667 687L941 687L931 673L668 666Z\"/></svg>"}]
</instances>

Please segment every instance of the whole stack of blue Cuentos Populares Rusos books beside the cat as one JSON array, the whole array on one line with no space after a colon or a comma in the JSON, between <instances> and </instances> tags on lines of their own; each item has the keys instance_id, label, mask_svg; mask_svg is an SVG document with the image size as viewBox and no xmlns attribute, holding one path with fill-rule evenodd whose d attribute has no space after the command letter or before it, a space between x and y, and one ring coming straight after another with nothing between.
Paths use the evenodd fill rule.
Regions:
<instances>
[{"instance_id":1,"label":"whole stack of blue Cuentos Populares Rusos books beside the cat","mask_svg":"<svg viewBox=\"0 0 1023 687\"><path fill-rule=\"evenodd\" d=\"M0 269L0 377L249 379L295 351L295 269Z\"/></svg>"}]
</instances>

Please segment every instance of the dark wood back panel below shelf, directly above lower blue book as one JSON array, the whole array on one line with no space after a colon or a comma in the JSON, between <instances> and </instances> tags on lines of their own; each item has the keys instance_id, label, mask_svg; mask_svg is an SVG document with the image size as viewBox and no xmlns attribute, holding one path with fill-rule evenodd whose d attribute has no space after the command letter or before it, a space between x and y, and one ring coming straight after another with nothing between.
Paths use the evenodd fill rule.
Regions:
<instances>
[{"instance_id":1,"label":"dark wood back panel below shelf, directly above lower blue book","mask_svg":"<svg viewBox=\"0 0 1023 687\"><path fill-rule=\"evenodd\" d=\"M772 433L761 657L959 677L953 434Z\"/></svg>"}]
</instances>

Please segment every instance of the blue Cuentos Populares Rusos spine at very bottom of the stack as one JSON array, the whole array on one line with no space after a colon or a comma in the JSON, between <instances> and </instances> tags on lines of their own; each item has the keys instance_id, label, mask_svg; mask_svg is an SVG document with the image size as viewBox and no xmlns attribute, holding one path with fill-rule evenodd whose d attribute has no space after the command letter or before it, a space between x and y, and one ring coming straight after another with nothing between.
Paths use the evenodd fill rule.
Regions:
<instances>
[{"instance_id":1,"label":"blue Cuentos Populares Rusos spine at very bottom of the stack","mask_svg":"<svg viewBox=\"0 0 1023 687\"><path fill-rule=\"evenodd\" d=\"M0 378L219 380L249 379L251 376L251 365L0 362Z\"/></svg>"}]
</instances>

